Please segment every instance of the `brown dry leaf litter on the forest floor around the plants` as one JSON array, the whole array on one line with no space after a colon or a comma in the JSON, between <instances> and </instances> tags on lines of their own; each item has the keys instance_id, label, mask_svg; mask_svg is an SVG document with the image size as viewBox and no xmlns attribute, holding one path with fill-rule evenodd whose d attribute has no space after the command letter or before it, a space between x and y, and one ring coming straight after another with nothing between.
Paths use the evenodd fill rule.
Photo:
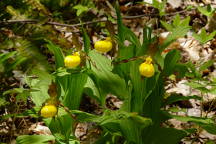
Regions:
<instances>
[{"instance_id":1,"label":"brown dry leaf litter on the forest floor around the plants","mask_svg":"<svg viewBox=\"0 0 216 144\"><path fill-rule=\"evenodd\" d=\"M123 15L123 23L129 27L137 36L142 40L142 31L143 27L147 24L154 28L154 34L160 36L160 41L163 42L166 39L168 32L162 28L160 25L160 17L157 15L157 11L149 6L144 6L140 4L130 5L126 0L121 1L121 12ZM147 1L147 0L146 0ZM177 14L181 18L186 18L187 16L191 17L191 24L193 29L197 32L205 26L206 30L211 32L215 29L216 26L216 14L209 19L207 16L200 14L195 9L187 9L188 6L204 6L210 4L212 7L216 8L216 2L203 0L200 2L197 1L177 1L177 0L168 0L168 7L166 9L166 15L163 17L164 21L168 23L171 22ZM110 14L113 14L115 17L114 8L109 2L105 2L107 8L110 8ZM99 14L98 18L103 19L103 14ZM209 21L211 23L206 25ZM65 32L61 27L56 27L65 37L70 37L70 32ZM91 28L91 25L89 25ZM98 40L99 33L92 33L91 37L93 41ZM188 33L186 37L179 38L176 42L169 46L168 50L178 49L181 51L182 61L188 62L191 61L193 64L199 64L199 62L214 60L216 58L216 39L213 39L203 45L201 45L196 39L192 37L192 33ZM20 84L22 79L18 79L22 75L19 71L14 72L14 77L3 80L1 83L4 85L16 87ZM203 77L216 77L216 63L213 66L209 67L205 72L203 72ZM183 102L175 103L167 107L173 113L178 115L188 115L188 116L206 116L206 117L215 117L216 112L216 95L209 93L202 93L198 90L195 90L185 83L188 82L187 78L183 79L172 79L170 78L167 81L166 91L167 93L178 93L184 96L188 95L198 95L203 97L203 101L196 100L185 100ZM1 108L0 116L8 113L16 112L16 108L13 107L13 102L15 102L15 97L10 97L10 107ZM119 109L122 105L117 97L113 95L108 95L106 99L106 106L111 110ZM19 112L23 112L26 109L33 107L31 100L29 99L26 104L19 104ZM80 110L90 112L93 114L102 113L100 106L88 96L84 96ZM171 119L167 122L167 125L175 127L178 129L193 128L195 127L192 123L184 123L174 119ZM35 119L32 117L25 118L9 118L3 121L0 121L0 141L9 142L11 144L15 143L15 138L19 135L24 134L51 134L48 127L40 119ZM95 127L93 123L78 123L75 130L75 136L81 140L83 144L92 143L100 135L100 128ZM216 135L207 133L205 130L197 132L189 137L186 137L182 140L182 144L202 144L206 143L208 140L216 141Z\"/></svg>"}]
</instances>

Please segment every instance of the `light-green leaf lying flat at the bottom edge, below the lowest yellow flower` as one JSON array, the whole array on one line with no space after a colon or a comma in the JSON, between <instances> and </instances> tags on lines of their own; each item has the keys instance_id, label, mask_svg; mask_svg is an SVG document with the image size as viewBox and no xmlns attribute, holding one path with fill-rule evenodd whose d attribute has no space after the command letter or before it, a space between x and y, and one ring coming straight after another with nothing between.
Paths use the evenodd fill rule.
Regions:
<instances>
[{"instance_id":1,"label":"light-green leaf lying flat at the bottom edge, below the lowest yellow flower","mask_svg":"<svg viewBox=\"0 0 216 144\"><path fill-rule=\"evenodd\" d=\"M55 140L52 135L21 135L16 139L17 144L48 144Z\"/></svg>"}]
</instances>

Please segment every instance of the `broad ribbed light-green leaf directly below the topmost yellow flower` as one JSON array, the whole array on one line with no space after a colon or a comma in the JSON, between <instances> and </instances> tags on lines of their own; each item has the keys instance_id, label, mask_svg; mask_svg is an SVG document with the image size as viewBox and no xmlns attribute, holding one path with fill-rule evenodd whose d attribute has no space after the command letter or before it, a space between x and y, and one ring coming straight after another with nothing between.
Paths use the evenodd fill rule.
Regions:
<instances>
[{"instance_id":1,"label":"broad ribbed light-green leaf directly below the topmost yellow flower","mask_svg":"<svg viewBox=\"0 0 216 144\"><path fill-rule=\"evenodd\" d=\"M92 65L93 75L97 78L96 84L105 93L112 93L120 98L126 98L128 95L125 81L117 74L112 73L113 66L111 60L97 53L90 51L89 56L91 61L95 64Z\"/></svg>"}]
</instances>

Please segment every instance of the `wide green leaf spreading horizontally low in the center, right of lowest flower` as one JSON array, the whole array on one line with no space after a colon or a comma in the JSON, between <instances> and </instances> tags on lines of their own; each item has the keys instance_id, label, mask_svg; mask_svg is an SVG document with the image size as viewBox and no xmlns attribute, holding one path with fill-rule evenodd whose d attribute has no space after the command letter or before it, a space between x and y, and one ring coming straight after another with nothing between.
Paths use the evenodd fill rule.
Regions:
<instances>
[{"instance_id":1,"label":"wide green leaf spreading horizontally low in the center, right of lowest flower","mask_svg":"<svg viewBox=\"0 0 216 144\"><path fill-rule=\"evenodd\" d=\"M141 130L152 124L152 121L149 118L141 117L137 113L128 113L121 110L106 110L102 116L96 116L78 110L72 110L71 113L77 116L78 121L95 122L105 130L111 133L118 133L119 135L121 135L121 133L124 134L126 131L131 131L135 125ZM130 121L131 125L129 125L128 121Z\"/></svg>"}]
</instances>

